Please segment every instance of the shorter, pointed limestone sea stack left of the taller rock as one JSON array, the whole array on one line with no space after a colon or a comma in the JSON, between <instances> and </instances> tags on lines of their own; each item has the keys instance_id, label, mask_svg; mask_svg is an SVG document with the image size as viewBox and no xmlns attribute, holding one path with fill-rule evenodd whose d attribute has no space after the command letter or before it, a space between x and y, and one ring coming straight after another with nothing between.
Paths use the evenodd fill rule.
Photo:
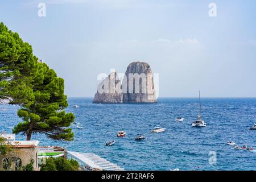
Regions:
<instances>
[{"instance_id":1,"label":"shorter, pointed limestone sea stack left of the taller rock","mask_svg":"<svg viewBox=\"0 0 256 182\"><path fill-rule=\"evenodd\" d=\"M98 84L97 93L93 103L96 104L117 104L122 103L122 82L117 72L112 72L108 77Z\"/></svg>"}]
</instances>

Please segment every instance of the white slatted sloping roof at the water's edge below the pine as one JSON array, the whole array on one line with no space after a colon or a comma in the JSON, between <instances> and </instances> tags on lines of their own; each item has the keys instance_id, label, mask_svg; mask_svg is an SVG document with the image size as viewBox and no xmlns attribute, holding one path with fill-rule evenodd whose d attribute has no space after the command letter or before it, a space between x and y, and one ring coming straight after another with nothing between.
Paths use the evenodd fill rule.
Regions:
<instances>
[{"instance_id":1,"label":"white slatted sloping roof at the water's edge below the pine","mask_svg":"<svg viewBox=\"0 0 256 182\"><path fill-rule=\"evenodd\" d=\"M68 151L68 154L94 169L101 169L105 171L124 171L123 168L95 154L71 151Z\"/></svg>"}]
</instances>

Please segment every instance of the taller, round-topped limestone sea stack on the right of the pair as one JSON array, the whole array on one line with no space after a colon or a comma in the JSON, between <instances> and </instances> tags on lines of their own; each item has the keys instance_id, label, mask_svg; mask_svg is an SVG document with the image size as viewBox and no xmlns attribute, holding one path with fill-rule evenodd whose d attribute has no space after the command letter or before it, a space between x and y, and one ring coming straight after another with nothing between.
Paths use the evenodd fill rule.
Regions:
<instances>
[{"instance_id":1,"label":"taller, round-topped limestone sea stack on the right of the pair","mask_svg":"<svg viewBox=\"0 0 256 182\"><path fill-rule=\"evenodd\" d=\"M155 103L155 87L150 65L143 62L129 64L123 78L123 103Z\"/></svg>"}]
</instances>

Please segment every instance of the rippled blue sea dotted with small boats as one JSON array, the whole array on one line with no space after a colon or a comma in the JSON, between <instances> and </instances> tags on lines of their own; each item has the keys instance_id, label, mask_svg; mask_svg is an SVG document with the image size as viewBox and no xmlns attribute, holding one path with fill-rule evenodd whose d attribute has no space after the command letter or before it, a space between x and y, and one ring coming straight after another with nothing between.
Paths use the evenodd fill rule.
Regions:
<instances>
[{"instance_id":1,"label":"rippled blue sea dotted with small boats","mask_svg":"<svg viewBox=\"0 0 256 182\"><path fill-rule=\"evenodd\" d=\"M56 142L42 134L33 135L41 146L60 145L69 151L92 152L126 170L256 170L256 152L238 151L226 142L256 148L256 98L202 98L203 119L207 127L191 123L199 114L197 98L159 98L157 104L92 104L92 98L69 98L67 111L76 115L72 124L75 140ZM74 108L79 105L80 108ZM1 108L6 108L2 111ZM0 131L10 133L21 121L18 106L0 105ZM175 122L184 117L183 122ZM153 134L154 127L166 127ZM125 130L125 138L117 131ZM136 134L146 139L135 141ZM26 139L23 135L16 139ZM108 147L105 142L115 140ZM216 164L209 164L209 152L217 154ZM211 153L210 153L211 154Z\"/></svg>"}]
</instances>

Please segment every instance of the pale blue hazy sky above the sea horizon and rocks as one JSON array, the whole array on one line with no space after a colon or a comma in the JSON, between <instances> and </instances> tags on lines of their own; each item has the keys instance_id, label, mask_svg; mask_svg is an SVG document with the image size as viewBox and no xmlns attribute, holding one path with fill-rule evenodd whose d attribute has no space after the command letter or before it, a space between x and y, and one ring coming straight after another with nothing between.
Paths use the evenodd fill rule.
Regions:
<instances>
[{"instance_id":1,"label":"pale blue hazy sky above the sea horizon and rocks","mask_svg":"<svg viewBox=\"0 0 256 182\"><path fill-rule=\"evenodd\" d=\"M159 74L159 97L256 97L255 18L254 0L0 2L0 22L64 78L68 97L93 97L100 73L133 61Z\"/></svg>"}]
</instances>

